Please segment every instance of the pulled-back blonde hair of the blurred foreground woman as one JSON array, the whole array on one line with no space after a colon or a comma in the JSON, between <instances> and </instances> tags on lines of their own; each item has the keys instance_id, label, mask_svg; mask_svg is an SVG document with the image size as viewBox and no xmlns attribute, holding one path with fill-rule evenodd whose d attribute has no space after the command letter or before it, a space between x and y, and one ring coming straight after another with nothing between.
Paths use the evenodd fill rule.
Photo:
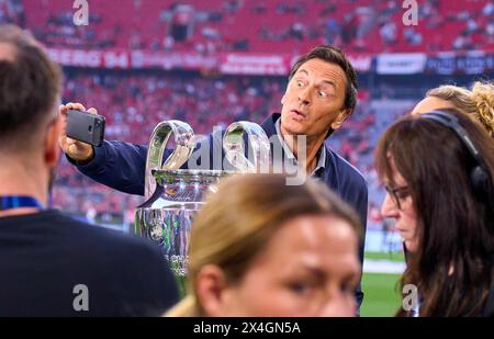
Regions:
<instances>
[{"instance_id":1,"label":"pulled-back blonde hair of the blurred foreground woman","mask_svg":"<svg viewBox=\"0 0 494 339\"><path fill-rule=\"evenodd\" d=\"M302 185L287 185L283 174L222 179L192 225L188 295L166 316L206 316L195 291L201 269L215 264L229 284L238 283L276 230L284 222L307 214L336 216L360 236L357 214L314 179L307 178Z\"/></svg>"}]
</instances>

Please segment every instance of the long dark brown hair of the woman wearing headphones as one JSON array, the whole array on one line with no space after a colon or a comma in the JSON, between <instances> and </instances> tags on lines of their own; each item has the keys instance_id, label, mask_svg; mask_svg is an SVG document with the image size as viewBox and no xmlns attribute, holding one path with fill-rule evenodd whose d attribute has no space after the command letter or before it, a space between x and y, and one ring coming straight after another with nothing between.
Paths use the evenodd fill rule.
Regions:
<instances>
[{"instance_id":1,"label":"long dark brown hair of the woman wearing headphones","mask_svg":"<svg viewBox=\"0 0 494 339\"><path fill-rule=\"evenodd\" d=\"M381 137L377 169L394 184L392 161L409 188L418 249L407 258L401 285L415 284L420 316L478 316L493 279L494 144L484 128L454 110L491 177L485 196L470 172L476 161L453 129L422 115L393 124ZM398 315L406 315L401 309Z\"/></svg>"}]
</instances>

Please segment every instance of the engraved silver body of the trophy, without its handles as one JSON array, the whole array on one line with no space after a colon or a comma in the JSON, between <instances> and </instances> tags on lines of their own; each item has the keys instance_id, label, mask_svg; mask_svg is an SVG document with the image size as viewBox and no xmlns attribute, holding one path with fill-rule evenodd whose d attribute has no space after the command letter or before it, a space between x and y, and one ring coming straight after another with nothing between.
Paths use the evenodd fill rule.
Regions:
<instances>
[{"instance_id":1,"label":"engraved silver body of the trophy, without its handles","mask_svg":"<svg viewBox=\"0 0 494 339\"><path fill-rule=\"evenodd\" d=\"M154 170L156 191L136 212L135 233L156 244L186 293L192 219L216 183L220 170Z\"/></svg>"}]
</instances>

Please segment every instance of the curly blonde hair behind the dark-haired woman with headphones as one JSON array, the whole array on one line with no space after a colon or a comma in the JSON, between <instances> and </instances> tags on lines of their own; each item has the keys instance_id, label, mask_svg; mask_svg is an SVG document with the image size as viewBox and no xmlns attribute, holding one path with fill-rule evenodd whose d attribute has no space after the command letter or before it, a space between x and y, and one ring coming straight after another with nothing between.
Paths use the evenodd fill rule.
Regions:
<instances>
[{"instance_id":1,"label":"curly blonde hair behind the dark-haired woman with headphones","mask_svg":"<svg viewBox=\"0 0 494 339\"><path fill-rule=\"evenodd\" d=\"M494 83L476 81L472 90L452 84L431 89L426 97L450 102L457 110L472 116L494 138Z\"/></svg>"}]
</instances>

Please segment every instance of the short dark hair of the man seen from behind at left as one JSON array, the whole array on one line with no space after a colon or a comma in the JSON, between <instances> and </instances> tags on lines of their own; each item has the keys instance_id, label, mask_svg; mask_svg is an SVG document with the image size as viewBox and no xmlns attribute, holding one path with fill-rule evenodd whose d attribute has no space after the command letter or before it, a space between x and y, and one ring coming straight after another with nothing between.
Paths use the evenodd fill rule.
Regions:
<instances>
[{"instance_id":1,"label":"short dark hair of the man seen from behind at left","mask_svg":"<svg viewBox=\"0 0 494 339\"><path fill-rule=\"evenodd\" d=\"M60 95L61 70L29 33L0 25L0 44L12 56L0 59L0 144L14 146L47 123Z\"/></svg>"}]
</instances>

